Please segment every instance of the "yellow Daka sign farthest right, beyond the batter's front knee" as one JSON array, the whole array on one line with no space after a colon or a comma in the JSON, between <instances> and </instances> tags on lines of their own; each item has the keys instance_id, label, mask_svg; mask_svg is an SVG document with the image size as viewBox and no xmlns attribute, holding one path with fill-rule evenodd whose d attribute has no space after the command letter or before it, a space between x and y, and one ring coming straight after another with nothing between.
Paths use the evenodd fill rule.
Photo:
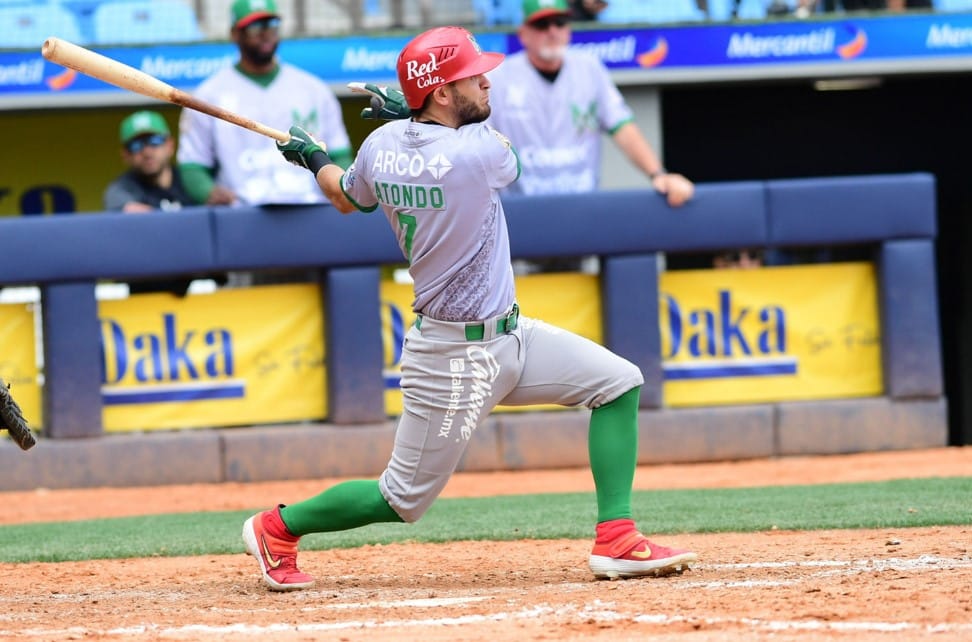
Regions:
<instances>
[{"instance_id":1,"label":"yellow Daka sign farthest right, beyond the batter's front knee","mask_svg":"<svg viewBox=\"0 0 972 642\"><path fill-rule=\"evenodd\" d=\"M660 287L666 405L882 392L869 263L674 271Z\"/></svg>"}]
</instances>

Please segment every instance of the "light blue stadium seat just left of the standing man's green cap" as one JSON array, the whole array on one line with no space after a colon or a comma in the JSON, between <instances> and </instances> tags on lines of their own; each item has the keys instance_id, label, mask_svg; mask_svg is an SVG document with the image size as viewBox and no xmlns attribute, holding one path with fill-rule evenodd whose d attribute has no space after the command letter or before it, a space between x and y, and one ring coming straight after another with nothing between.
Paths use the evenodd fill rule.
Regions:
<instances>
[{"instance_id":1,"label":"light blue stadium seat just left of the standing man's green cap","mask_svg":"<svg viewBox=\"0 0 972 642\"><path fill-rule=\"evenodd\" d=\"M92 15L92 31L98 44L153 44L203 39L192 7L179 0L105 2Z\"/></svg>"}]
</instances>

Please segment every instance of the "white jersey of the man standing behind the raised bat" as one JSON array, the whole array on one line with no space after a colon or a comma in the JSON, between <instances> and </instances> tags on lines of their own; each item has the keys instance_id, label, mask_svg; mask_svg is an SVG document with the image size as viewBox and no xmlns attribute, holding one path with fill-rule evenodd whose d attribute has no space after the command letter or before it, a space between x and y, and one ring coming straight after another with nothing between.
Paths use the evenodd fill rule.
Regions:
<instances>
[{"instance_id":1,"label":"white jersey of the man standing behind the raised bat","mask_svg":"<svg viewBox=\"0 0 972 642\"><path fill-rule=\"evenodd\" d=\"M236 67L222 69L194 92L202 100L287 131L300 125L330 150L351 147L341 106L319 78L281 64L266 87ZM246 204L321 203L326 199L307 170L284 161L274 141L192 109L179 121L179 163L216 168L216 182Z\"/></svg>"}]
</instances>

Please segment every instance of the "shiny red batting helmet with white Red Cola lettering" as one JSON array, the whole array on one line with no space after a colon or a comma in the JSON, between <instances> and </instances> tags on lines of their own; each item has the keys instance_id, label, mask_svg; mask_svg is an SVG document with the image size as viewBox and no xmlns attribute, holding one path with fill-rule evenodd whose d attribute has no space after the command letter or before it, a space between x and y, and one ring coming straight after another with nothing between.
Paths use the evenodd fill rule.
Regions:
<instances>
[{"instance_id":1,"label":"shiny red batting helmet with white Red Cola lettering","mask_svg":"<svg viewBox=\"0 0 972 642\"><path fill-rule=\"evenodd\" d=\"M503 62L503 54L483 53L462 27L436 27L415 36L398 55L398 83L405 101L419 109L436 87L484 74Z\"/></svg>"}]
</instances>

